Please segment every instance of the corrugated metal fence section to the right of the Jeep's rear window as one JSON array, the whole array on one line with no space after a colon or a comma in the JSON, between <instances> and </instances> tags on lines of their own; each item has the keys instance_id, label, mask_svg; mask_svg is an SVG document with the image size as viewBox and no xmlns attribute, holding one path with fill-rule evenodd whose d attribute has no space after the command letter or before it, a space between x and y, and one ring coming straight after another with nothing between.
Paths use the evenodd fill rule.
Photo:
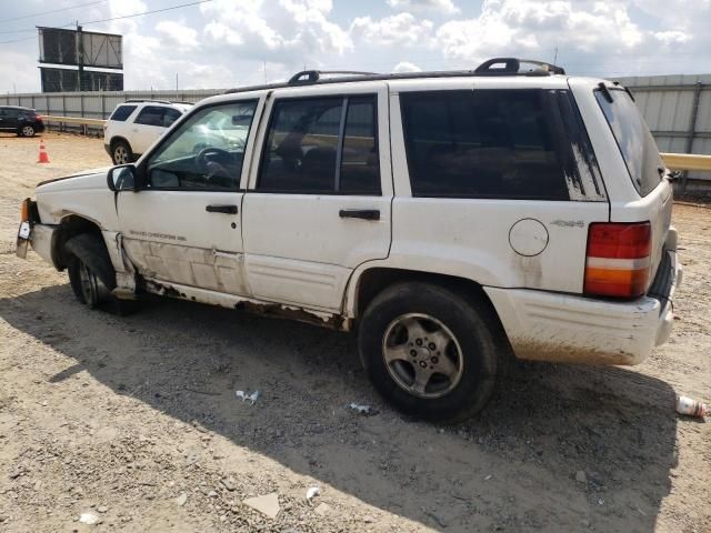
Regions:
<instances>
[{"instance_id":1,"label":"corrugated metal fence section to the right of the Jeep's rear window","mask_svg":"<svg viewBox=\"0 0 711 533\"><path fill-rule=\"evenodd\" d=\"M711 74L619 78L634 94L661 152L711 155ZM711 174L689 172L690 180Z\"/></svg>"}]
</instances>

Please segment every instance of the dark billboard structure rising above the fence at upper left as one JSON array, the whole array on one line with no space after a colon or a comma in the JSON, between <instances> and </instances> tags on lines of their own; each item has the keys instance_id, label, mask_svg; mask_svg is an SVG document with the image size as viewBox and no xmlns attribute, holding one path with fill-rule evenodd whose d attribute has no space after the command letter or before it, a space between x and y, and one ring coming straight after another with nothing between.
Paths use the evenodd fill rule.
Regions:
<instances>
[{"instance_id":1,"label":"dark billboard structure rising above the fence at upper left","mask_svg":"<svg viewBox=\"0 0 711 533\"><path fill-rule=\"evenodd\" d=\"M40 63L69 67L40 67L42 92L123 90L123 73L86 70L122 70L121 36L83 31L80 26L76 30L38 27L38 31Z\"/></svg>"}]
</instances>

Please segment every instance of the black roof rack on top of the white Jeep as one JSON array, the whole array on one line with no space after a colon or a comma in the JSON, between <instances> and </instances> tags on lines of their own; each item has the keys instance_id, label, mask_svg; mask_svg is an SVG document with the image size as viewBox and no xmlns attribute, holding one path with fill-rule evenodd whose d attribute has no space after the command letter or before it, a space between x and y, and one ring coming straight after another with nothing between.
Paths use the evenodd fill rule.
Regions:
<instances>
[{"instance_id":1,"label":"black roof rack on top of the white Jeep","mask_svg":"<svg viewBox=\"0 0 711 533\"><path fill-rule=\"evenodd\" d=\"M521 63L532 64L534 69L521 70ZM498 67L503 64L503 67ZM341 71L321 71L321 70L303 70L292 76L289 81L283 83L270 83L263 86L242 87L224 91L224 94L236 92L250 92L271 89L283 89L294 86L310 86L324 83L349 83L357 81L388 81L388 80L412 80L420 78L461 78L461 77L480 77L480 76L553 76L564 74L565 70L543 61L517 58L494 58L484 61L474 70L454 70L454 71L437 71L437 72L399 72L391 74L359 72L352 70ZM347 74L343 78L323 78L323 74Z\"/></svg>"}]
</instances>

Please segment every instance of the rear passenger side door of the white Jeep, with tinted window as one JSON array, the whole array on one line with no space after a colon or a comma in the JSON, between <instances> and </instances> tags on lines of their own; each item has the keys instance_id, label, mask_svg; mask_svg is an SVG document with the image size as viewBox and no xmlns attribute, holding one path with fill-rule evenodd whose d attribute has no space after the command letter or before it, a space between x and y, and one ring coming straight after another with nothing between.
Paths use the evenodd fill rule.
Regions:
<instances>
[{"instance_id":1,"label":"rear passenger side door of the white Jeep, with tinted window","mask_svg":"<svg viewBox=\"0 0 711 533\"><path fill-rule=\"evenodd\" d=\"M257 298L339 311L351 272L388 257L387 88L358 89L338 97L274 94L243 200L247 271Z\"/></svg>"}]
</instances>

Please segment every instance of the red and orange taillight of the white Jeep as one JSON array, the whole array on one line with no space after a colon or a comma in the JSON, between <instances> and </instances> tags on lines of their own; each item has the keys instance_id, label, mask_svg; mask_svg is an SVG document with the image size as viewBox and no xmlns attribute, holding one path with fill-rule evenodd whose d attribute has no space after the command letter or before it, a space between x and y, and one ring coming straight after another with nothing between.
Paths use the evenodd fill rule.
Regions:
<instances>
[{"instance_id":1,"label":"red and orange taillight of the white Jeep","mask_svg":"<svg viewBox=\"0 0 711 533\"><path fill-rule=\"evenodd\" d=\"M599 296L644 294L651 247L649 222L590 224L584 293Z\"/></svg>"}]
</instances>

